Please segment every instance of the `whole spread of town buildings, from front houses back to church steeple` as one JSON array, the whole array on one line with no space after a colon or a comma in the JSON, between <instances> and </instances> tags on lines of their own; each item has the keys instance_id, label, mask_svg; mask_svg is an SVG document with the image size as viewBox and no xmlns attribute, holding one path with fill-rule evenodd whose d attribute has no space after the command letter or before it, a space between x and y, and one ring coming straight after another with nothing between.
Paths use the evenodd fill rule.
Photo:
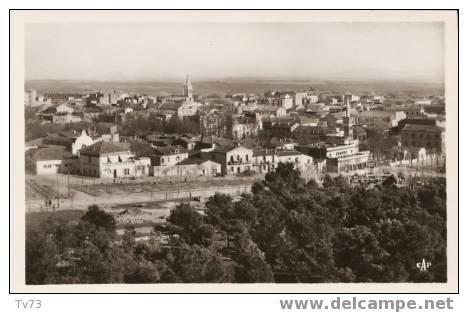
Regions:
<instances>
[{"instance_id":1,"label":"whole spread of town buildings, from front houses back to church steeple","mask_svg":"<svg viewBox=\"0 0 468 313\"><path fill-rule=\"evenodd\" d=\"M445 152L442 119L427 114L423 105L383 105L369 110L385 102L381 96L272 92L263 97L229 95L228 104L202 103L193 94L187 76L182 95L153 99L95 93L87 95L83 106L74 106L76 97L71 98L67 103L40 110L38 116L53 123L73 123L83 114L79 107L92 117L99 116L103 106L110 107L105 109L109 114L119 112L124 116L151 111L164 120L197 119L200 136L146 138L143 141L147 151L141 154L121 142L118 125L100 134L90 130L79 136L51 134L43 138L35 154L38 174L69 172L99 178L244 175L272 171L280 162L291 162L301 171L315 173L365 171L373 158L363 149L370 130L398 130L400 143L390 149L390 157L399 157L393 150ZM112 108L113 102L125 106L123 112ZM150 103L155 106L147 107ZM132 105L140 107L133 109ZM97 110L95 115L93 110ZM230 141L206 141L213 137ZM245 144L248 139L254 139L256 145ZM271 145L274 141L277 144Z\"/></svg>"}]
</instances>

